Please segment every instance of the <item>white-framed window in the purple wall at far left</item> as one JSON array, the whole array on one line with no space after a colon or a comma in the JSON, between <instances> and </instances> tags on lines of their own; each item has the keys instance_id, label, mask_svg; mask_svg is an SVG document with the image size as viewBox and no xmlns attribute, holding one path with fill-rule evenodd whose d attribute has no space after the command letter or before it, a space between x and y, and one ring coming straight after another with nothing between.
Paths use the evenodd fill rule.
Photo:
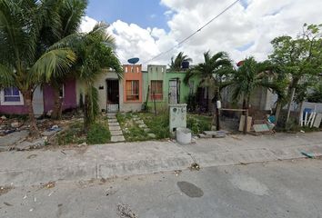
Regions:
<instances>
[{"instance_id":1,"label":"white-framed window in the purple wall at far left","mask_svg":"<svg viewBox=\"0 0 322 218\"><path fill-rule=\"evenodd\" d=\"M15 87L5 88L1 92L1 104L3 105L23 105L23 96Z\"/></svg>"}]
</instances>

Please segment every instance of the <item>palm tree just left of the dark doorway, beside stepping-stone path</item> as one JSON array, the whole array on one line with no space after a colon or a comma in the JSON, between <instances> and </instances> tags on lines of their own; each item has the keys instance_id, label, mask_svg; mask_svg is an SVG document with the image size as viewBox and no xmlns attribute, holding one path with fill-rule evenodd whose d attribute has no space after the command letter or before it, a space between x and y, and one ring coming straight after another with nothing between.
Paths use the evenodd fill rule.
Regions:
<instances>
[{"instance_id":1,"label":"palm tree just left of the dark doorway, beside stepping-stone path","mask_svg":"<svg viewBox=\"0 0 322 218\"><path fill-rule=\"evenodd\" d=\"M88 34L80 34L74 38L75 52L78 56L75 66L77 78L86 84L85 90L85 131L95 122L98 106L96 102L97 90L94 82L104 68L116 70L122 77L122 66L113 50L114 38L107 33L108 25L98 23Z\"/></svg>"}]
</instances>

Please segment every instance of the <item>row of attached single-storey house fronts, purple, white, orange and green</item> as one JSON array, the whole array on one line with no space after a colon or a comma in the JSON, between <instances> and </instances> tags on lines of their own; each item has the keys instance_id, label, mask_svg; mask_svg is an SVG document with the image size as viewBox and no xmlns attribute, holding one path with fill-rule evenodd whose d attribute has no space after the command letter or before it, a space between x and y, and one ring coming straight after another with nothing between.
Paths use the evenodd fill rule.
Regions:
<instances>
[{"instance_id":1,"label":"row of attached single-storey house fronts, purple, white, orange and green","mask_svg":"<svg viewBox=\"0 0 322 218\"><path fill-rule=\"evenodd\" d=\"M196 102L205 111L212 111L213 90L200 87L200 78L193 77L184 83L186 71L171 71L166 65L150 64L142 71L141 64L123 65L124 74L118 77L113 70L104 70L94 83L98 91L98 104L101 111L138 112L147 105L154 109L166 110L168 104L186 103L189 94L196 94ZM75 79L65 82L60 92L63 110L76 108L84 102L85 84ZM224 90L223 107L231 105L231 89ZM81 100L83 98L83 100ZM269 110L276 102L275 94L269 90L257 90L252 94L253 106ZM45 114L54 107L54 89L50 84L37 87L34 92L33 106L36 115ZM0 114L27 114L22 94L15 87L0 91Z\"/></svg>"}]
</instances>

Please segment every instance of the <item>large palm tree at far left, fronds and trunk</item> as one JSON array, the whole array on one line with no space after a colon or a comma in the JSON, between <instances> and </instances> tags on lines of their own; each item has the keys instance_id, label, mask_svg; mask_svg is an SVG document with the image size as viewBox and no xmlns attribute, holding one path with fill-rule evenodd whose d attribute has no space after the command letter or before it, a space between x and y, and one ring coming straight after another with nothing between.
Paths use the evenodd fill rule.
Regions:
<instances>
[{"instance_id":1,"label":"large palm tree at far left, fronds and trunk","mask_svg":"<svg viewBox=\"0 0 322 218\"><path fill-rule=\"evenodd\" d=\"M0 1L0 86L15 86L23 94L34 137L40 135L32 104L36 86L61 74L75 61L69 48L45 46L45 30L51 26L51 35L58 34L58 21L55 0Z\"/></svg>"}]
</instances>

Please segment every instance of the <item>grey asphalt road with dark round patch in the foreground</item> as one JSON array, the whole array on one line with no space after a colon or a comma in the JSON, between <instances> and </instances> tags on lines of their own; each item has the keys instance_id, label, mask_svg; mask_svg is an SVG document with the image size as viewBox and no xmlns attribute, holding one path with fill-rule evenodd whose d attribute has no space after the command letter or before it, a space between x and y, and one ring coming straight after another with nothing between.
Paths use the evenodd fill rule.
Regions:
<instances>
[{"instance_id":1,"label":"grey asphalt road with dark round patch in the foreground","mask_svg":"<svg viewBox=\"0 0 322 218\"><path fill-rule=\"evenodd\" d=\"M0 217L322 217L322 160L0 190Z\"/></svg>"}]
</instances>

